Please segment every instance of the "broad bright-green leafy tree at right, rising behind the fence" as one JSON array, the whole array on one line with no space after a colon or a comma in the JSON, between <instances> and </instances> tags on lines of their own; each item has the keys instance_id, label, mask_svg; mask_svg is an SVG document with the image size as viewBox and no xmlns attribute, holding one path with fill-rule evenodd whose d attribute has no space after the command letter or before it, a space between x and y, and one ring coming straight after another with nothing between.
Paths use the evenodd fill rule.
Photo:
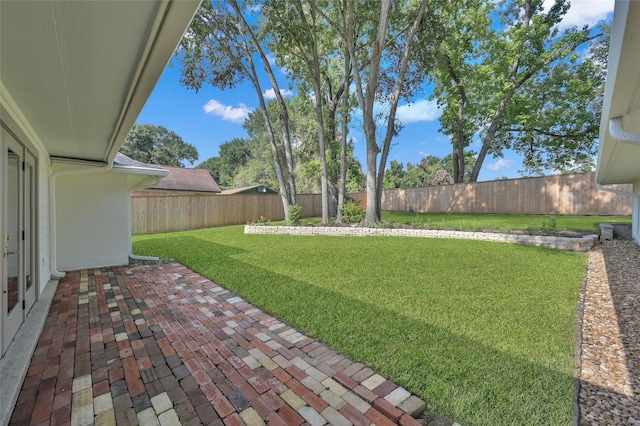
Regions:
<instances>
[{"instance_id":1,"label":"broad bright-green leafy tree at right, rising behind the fence","mask_svg":"<svg viewBox=\"0 0 640 426\"><path fill-rule=\"evenodd\" d=\"M525 157L525 174L592 168L604 49L594 46L595 55L579 58L591 29L560 33L568 9L566 0L549 9L532 0L451 0L440 4L434 25L425 26L437 42L433 96L443 111L442 131L451 137L456 182L467 175L462 152L474 135L482 146L471 181L487 154L502 156L506 149Z\"/></svg>"}]
</instances>

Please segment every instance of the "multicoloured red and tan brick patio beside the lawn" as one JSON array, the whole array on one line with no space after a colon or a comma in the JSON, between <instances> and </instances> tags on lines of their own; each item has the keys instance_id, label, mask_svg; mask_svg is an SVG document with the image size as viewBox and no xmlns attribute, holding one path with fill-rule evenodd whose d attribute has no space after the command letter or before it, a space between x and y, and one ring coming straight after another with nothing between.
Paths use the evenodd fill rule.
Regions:
<instances>
[{"instance_id":1,"label":"multicoloured red and tan brick patio beside the lawn","mask_svg":"<svg viewBox=\"0 0 640 426\"><path fill-rule=\"evenodd\" d=\"M11 425L418 425L424 402L178 263L70 272Z\"/></svg>"}]
</instances>

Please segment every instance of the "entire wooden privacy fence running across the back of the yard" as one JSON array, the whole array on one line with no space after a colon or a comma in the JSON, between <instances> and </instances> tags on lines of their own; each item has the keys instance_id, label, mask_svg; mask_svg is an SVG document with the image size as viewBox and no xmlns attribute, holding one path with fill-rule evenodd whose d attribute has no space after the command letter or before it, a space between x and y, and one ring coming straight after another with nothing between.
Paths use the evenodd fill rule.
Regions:
<instances>
[{"instance_id":1,"label":"entire wooden privacy fence running across the back of the yard","mask_svg":"<svg viewBox=\"0 0 640 426\"><path fill-rule=\"evenodd\" d=\"M631 191L631 185L611 188ZM366 206L366 194L350 194ZM320 195L298 195L305 217L322 215ZM631 196L601 191L594 173L384 191L382 210L433 213L630 215ZM134 234L282 220L280 195L132 195Z\"/></svg>"}]
</instances>

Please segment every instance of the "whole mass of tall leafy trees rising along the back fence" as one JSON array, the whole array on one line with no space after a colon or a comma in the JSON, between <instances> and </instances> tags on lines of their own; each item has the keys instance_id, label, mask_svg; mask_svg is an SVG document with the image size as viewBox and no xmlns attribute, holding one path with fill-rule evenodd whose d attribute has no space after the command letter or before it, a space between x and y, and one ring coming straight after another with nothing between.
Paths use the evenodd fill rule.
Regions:
<instances>
[{"instance_id":1,"label":"whole mass of tall leafy trees rising along the back fence","mask_svg":"<svg viewBox=\"0 0 640 426\"><path fill-rule=\"evenodd\" d=\"M524 159L523 174L588 170L608 28L561 30L569 7L568 0L205 1L182 42L182 82L198 90L248 80L259 107L245 123L251 143L230 141L202 167L222 185L272 173L285 208L295 204L297 185L319 190L326 221L348 182L360 179L349 143L357 128L369 224L380 220L382 189L397 185L400 171L412 185L477 181L487 155L506 150ZM274 62L297 92L293 100ZM265 99L265 84L274 101ZM399 102L425 90L441 108L451 154L406 171L397 161L387 168L402 130ZM247 147L248 158L239 154Z\"/></svg>"}]
</instances>

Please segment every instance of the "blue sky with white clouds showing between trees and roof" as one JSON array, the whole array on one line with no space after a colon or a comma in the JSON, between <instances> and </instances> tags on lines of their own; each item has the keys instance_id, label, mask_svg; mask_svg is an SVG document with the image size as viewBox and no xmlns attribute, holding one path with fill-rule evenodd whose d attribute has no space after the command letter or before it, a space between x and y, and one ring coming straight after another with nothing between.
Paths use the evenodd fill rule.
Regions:
<instances>
[{"instance_id":1,"label":"blue sky with white clouds showing between trees and roof","mask_svg":"<svg viewBox=\"0 0 640 426\"><path fill-rule=\"evenodd\" d=\"M545 0L550 3L551 0ZM595 25L613 12L613 0L572 0L572 7L563 21L563 25ZM247 114L258 106L258 99L249 84L238 85L233 89L220 90L211 85L203 85L196 93L182 86L180 63L173 59L158 81L154 91L143 108L138 123L164 126L176 132L182 139L194 145L199 152L199 160L193 167L208 158L218 155L220 145L233 138L246 137L242 122ZM285 75L279 73L281 88L288 88ZM265 95L273 96L273 89L265 79ZM270 93L269 93L270 91ZM449 139L438 132L439 113L434 102L428 100L429 94L415 100L411 106L402 104L398 118L404 128L393 140L389 162L397 160L405 164L418 163L426 155L444 157L451 152ZM355 140L355 154L365 165L364 136L359 132L352 135ZM478 151L479 145L472 144L471 149ZM522 168L521 158L514 152L506 151L503 158L487 157L479 180L493 180L506 176L517 178Z\"/></svg>"}]
</instances>

